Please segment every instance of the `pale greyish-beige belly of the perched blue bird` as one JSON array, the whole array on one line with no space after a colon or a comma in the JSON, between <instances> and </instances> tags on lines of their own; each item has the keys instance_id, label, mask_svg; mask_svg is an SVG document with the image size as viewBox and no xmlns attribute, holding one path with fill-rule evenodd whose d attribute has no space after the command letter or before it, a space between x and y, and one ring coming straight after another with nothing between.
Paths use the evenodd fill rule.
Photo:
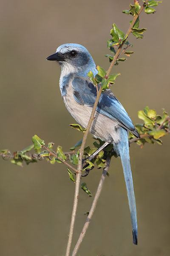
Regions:
<instances>
[{"instance_id":1,"label":"pale greyish-beige belly of the perched blue bird","mask_svg":"<svg viewBox=\"0 0 170 256\"><path fill-rule=\"evenodd\" d=\"M62 97L68 112L83 127L87 128L92 108L88 105L81 105L74 99L72 88L68 88L67 93ZM119 125L107 116L95 112L95 118L92 122L90 132L94 137L103 141L119 141Z\"/></svg>"}]
</instances>

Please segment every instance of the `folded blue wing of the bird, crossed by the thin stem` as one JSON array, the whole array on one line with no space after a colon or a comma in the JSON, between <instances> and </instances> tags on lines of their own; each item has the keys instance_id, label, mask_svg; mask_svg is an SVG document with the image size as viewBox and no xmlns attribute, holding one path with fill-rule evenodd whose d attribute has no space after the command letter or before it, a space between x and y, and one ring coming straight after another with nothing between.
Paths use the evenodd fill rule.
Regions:
<instances>
[{"instance_id":1,"label":"folded blue wing of the bird, crossed by the thin stem","mask_svg":"<svg viewBox=\"0 0 170 256\"><path fill-rule=\"evenodd\" d=\"M88 105L93 108L96 100L96 86L85 77L74 77L72 81L74 99L81 105ZM117 122L122 127L131 131L136 137L140 137L136 131L125 108L116 99L110 89L106 89L100 96L96 111Z\"/></svg>"}]
</instances>

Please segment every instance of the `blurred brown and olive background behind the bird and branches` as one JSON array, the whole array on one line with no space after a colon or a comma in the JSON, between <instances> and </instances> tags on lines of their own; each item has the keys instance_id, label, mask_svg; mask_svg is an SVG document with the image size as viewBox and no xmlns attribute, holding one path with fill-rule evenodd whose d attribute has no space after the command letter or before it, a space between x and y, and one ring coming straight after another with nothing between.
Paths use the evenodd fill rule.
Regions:
<instances>
[{"instance_id":1,"label":"blurred brown and olive background behind the bird and branches","mask_svg":"<svg viewBox=\"0 0 170 256\"><path fill-rule=\"evenodd\" d=\"M140 1L142 2L142 1ZM46 57L64 43L84 45L96 64L108 68L106 42L116 23L126 32L132 17L122 14L129 1L1 0L0 148L11 152L30 145L37 134L64 151L82 138L72 130L59 91L60 70ZM131 1L133 3L133 1ZM112 86L134 123L149 105L170 113L169 1L154 15L142 13L144 39L130 36L135 52L114 67L121 76ZM91 135L88 143L92 144ZM130 146L136 194L139 245L132 243L130 212L119 159L113 159L94 218L79 250L81 256L170 255L170 136L164 144ZM62 256L74 197L66 167L39 161L21 168L0 158L0 255ZM82 179L95 193L102 170ZM81 190L74 233L77 241L93 198Z\"/></svg>"}]
</instances>

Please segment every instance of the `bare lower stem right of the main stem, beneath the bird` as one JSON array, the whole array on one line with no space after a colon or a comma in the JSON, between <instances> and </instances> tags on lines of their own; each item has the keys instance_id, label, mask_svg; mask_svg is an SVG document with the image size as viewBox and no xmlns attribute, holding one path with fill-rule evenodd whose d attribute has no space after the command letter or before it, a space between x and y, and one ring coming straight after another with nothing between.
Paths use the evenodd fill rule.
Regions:
<instances>
[{"instance_id":1,"label":"bare lower stem right of the main stem, beneath the bird","mask_svg":"<svg viewBox=\"0 0 170 256\"><path fill-rule=\"evenodd\" d=\"M85 221L84 227L82 228L82 232L80 233L79 239L77 241L76 246L74 247L74 250L73 250L73 253L71 254L71 256L76 256L77 251L79 250L79 247L80 247L80 245L82 243L82 240L85 237L85 233L86 233L86 231L88 229L88 226L89 226L89 224L91 222L91 218L92 218L92 216L94 214L94 210L96 208L97 201L98 201L99 196L100 196L100 194L102 192L103 183L105 181L105 177L106 177L106 174L108 172L110 162L111 162L111 158L108 157L107 160L106 160L106 166L103 169L102 177L100 178L100 181L99 181L99 185L98 185L98 188L97 188L97 191L96 191L96 195L94 197L94 201L93 201L93 203L91 205L90 212L88 214L88 217L87 217L87 219Z\"/></svg>"}]
</instances>

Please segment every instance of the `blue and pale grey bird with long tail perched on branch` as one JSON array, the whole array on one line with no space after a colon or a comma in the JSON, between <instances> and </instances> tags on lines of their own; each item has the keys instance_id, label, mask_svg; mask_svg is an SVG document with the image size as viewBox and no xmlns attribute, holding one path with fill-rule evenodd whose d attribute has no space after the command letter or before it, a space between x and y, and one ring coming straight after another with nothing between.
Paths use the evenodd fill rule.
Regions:
<instances>
[{"instance_id":1,"label":"blue and pale grey bird with long tail perched on branch","mask_svg":"<svg viewBox=\"0 0 170 256\"><path fill-rule=\"evenodd\" d=\"M88 78L89 71L98 73L88 50L79 44L63 44L47 60L57 61L61 67L59 87L62 99L71 116L86 128L96 100L96 86ZM133 228L133 243L137 244L136 202L130 169L128 131L140 137L130 117L110 89L100 96L90 132L95 138L113 144L122 161Z\"/></svg>"}]
</instances>

